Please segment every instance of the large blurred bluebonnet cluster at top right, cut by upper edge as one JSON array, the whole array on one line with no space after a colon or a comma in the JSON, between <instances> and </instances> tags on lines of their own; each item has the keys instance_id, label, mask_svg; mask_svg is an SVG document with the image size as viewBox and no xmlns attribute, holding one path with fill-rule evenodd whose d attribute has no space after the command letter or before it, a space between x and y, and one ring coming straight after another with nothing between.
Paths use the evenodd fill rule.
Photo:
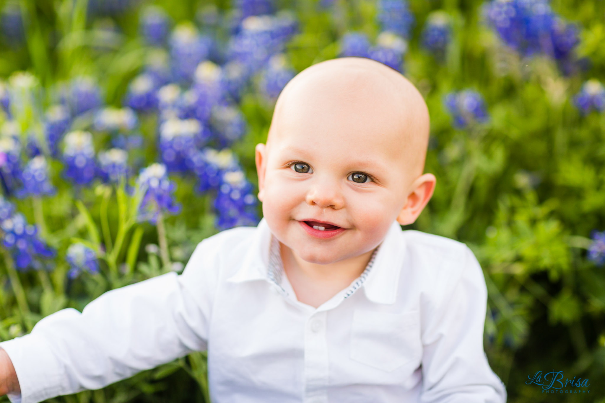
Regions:
<instances>
[{"instance_id":1,"label":"large blurred bluebonnet cluster at top right, cut by upper edge","mask_svg":"<svg viewBox=\"0 0 605 403\"><path fill-rule=\"evenodd\" d=\"M579 42L577 28L555 15L548 0L493 0L484 13L500 39L522 56L564 60Z\"/></svg>"}]
</instances>

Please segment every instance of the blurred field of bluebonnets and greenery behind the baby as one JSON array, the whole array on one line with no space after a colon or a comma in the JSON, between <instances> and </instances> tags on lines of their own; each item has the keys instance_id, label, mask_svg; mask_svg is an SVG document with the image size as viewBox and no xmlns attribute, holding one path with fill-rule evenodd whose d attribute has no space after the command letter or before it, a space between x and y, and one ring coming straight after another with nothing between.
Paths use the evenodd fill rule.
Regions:
<instances>
[{"instance_id":1,"label":"blurred field of bluebonnets and greenery behind the baby","mask_svg":"<svg viewBox=\"0 0 605 403\"><path fill-rule=\"evenodd\" d=\"M281 89L370 57L427 100L437 188L404 229L476 254L508 401L603 403L603 44L599 0L0 1L0 340L256 225ZM50 401L209 402L206 379L197 352Z\"/></svg>"}]
</instances>

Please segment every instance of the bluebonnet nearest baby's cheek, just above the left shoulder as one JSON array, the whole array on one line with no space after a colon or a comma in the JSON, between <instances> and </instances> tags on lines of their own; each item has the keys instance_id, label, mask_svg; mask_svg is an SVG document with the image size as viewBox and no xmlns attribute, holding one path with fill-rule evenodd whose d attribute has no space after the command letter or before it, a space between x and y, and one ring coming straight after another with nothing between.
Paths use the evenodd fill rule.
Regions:
<instances>
[{"instance_id":1,"label":"bluebonnet nearest baby's cheek, just above the left shoulder","mask_svg":"<svg viewBox=\"0 0 605 403\"><path fill-rule=\"evenodd\" d=\"M256 212L257 198L253 187L241 170L224 172L214 208L217 211L216 226L220 230L240 225L258 224Z\"/></svg>"}]
</instances>

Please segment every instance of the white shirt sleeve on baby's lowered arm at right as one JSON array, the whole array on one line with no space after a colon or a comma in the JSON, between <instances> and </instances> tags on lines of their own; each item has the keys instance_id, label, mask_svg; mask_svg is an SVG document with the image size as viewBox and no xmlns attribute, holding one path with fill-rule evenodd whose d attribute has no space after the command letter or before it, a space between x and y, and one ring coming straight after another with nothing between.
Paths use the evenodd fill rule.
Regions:
<instances>
[{"instance_id":1,"label":"white shirt sleeve on baby's lowered arm at right","mask_svg":"<svg viewBox=\"0 0 605 403\"><path fill-rule=\"evenodd\" d=\"M421 403L505 403L506 388L483 351L487 288L483 271L465 246L464 264L454 264L437 286L423 329ZM457 267L456 267L457 266Z\"/></svg>"}]
</instances>

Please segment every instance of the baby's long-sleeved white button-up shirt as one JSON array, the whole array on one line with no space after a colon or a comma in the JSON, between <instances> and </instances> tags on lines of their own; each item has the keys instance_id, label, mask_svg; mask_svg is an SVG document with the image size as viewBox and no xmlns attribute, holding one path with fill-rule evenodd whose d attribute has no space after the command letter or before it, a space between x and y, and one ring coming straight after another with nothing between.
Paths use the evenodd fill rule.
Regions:
<instances>
[{"instance_id":1,"label":"baby's long-sleeved white button-up shirt","mask_svg":"<svg viewBox=\"0 0 605 403\"><path fill-rule=\"evenodd\" d=\"M273 245L273 246L272 246ZM463 243L394 222L319 308L296 300L266 222L199 243L183 274L108 291L0 343L31 403L208 350L213 403L502 403L483 352L487 291Z\"/></svg>"}]
</instances>

